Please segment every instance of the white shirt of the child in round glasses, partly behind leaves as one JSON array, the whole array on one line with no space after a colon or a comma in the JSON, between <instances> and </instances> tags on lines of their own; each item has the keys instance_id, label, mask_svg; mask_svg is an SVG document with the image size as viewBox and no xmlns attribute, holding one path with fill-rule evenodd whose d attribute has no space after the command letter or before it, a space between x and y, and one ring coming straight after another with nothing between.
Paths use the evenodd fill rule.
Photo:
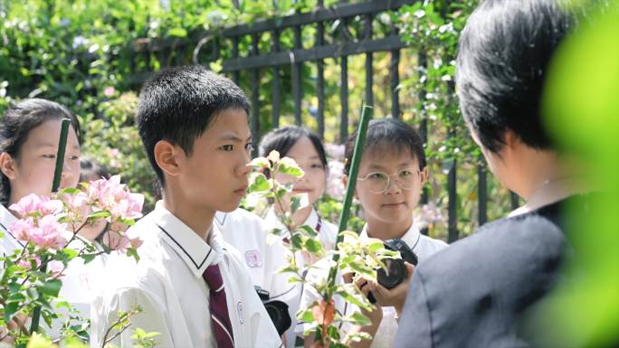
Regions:
<instances>
[{"instance_id":1,"label":"white shirt of the child in round glasses, partly behind leaves","mask_svg":"<svg viewBox=\"0 0 619 348\"><path fill-rule=\"evenodd\" d=\"M361 233L359 234L359 238L367 239L367 225L363 227ZM408 229L405 235L401 238L404 240L406 245L410 249L413 250L415 255L417 256L419 262L424 262L424 260L429 259L435 252L444 249L447 247L447 243L443 240L434 240L428 236L424 236L420 233L419 228L415 223L411 225L410 229ZM316 263L316 268L311 268L308 272L307 279L310 282L318 283L321 279L327 279L329 277L329 260L331 256L319 260ZM338 276L336 277L336 282L338 284L343 283L343 278L341 273L338 272ZM300 307L307 308L314 301L318 301L322 297L316 292L314 287L305 287L303 289L303 293L300 298ZM336 309L342 313L342 316L350 315L354 311L358 311L357 306L351 305L347 303L341 296L334 297ZM378 325L378 330L374 335L374 340L372 341L371 347L373 348L383 348L383 347L391 347L393 346L395 340L395 333L397 332L397 320L395 319L395 308L393 306L382 307L383 308L383 319ZM297 333L301 334L305 329L309 328L310 324L299 323L297 324L295 330ZM343 324L340 326L343 332L349 332L352 328L350 324Z\"/></svg>"}]
</instances>

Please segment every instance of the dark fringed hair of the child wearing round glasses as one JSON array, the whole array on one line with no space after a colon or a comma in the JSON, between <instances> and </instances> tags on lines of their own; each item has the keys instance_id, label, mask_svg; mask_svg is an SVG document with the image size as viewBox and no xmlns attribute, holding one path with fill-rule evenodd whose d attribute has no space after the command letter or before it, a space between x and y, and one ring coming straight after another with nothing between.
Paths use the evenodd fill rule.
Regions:
<instances>
[{"instance_id":1,"label":"dark fringed hair of the child wearing round glasses","mask_svg":"<svg viewBox=\"0 0 619 348\"><path fill-rule=\"evenodd\" d=\"M355 150L358 128L348 136L344 150L346 163L344 173L348 174L352 164L352 155ZM419 170L425 168L424 143L413 127L396 118L373 119L367 126L363 152L381 150L392 153L407 152L419 162Z\"/></svg>"}]
</instances>

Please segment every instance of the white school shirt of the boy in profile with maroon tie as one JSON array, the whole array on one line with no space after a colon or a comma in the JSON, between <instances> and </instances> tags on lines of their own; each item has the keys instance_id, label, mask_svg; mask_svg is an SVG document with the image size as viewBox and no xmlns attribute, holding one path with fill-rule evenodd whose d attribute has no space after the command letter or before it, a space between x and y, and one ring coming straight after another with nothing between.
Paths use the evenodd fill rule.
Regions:
<instances>
[{"instance_id":1,"label":"white school shirt of the boy in profile with maroon tie","mask_svg":"<svg viewBox=\"0 0 619 348\"><path fill-rule=\"evenodd\" d=\"M100 346L105 330L119 310L139 305L133 328L160 333L157 347L214 347L209 310L209 288L202 277L211 264L219 265L224 280L234 346L281 347L281 338L256 294L252 278L238 253L219 238L217 227L209 243L157 202L153 212L128 230L144 241L140 260L110 255L107 287L92 304L91 346ZM130 347L132 330L112 343Z\"/></svg>"}]
</instances>

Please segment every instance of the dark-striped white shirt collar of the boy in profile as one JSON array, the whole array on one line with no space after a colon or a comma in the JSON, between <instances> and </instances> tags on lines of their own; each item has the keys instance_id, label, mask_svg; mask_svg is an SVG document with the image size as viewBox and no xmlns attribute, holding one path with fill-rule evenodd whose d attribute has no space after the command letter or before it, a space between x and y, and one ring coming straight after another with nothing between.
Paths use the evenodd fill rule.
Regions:
<instances>
[{"instance_id":1,"label":"dark-striped white shirt collar of the boy in profile","mask_svg":"<svg viewBox=\"0 0 619 348\"><path fill-rule=\"evenodd\" d=\"M157 202L155 210L148 216L157 224L161 238L185 261L195 277L202 277L208 266L219 263L222 249L218 239L213 238L214 234L219 233L215 224L212 225L207 242L185 222L167 211L161 201Z\"/></svg>"}]
</instances>

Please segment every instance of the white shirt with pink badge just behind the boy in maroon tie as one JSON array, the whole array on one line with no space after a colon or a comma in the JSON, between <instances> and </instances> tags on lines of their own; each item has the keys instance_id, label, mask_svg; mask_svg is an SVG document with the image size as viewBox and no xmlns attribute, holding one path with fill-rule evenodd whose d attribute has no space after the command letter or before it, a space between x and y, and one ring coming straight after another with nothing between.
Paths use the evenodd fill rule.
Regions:
<instances>
[{"instance_id":1,"label":"white shirt with pink badge just behind the boy in maroon tie","mask_svg":"<svg viewBox=\"0 0 619 348\"><path fill-rule=\"evenodd\" d=\"M221 232L219 235L239 251L249 268L253 285L265 288L268 250L262 218L239 208L233 212L216 212L214 222Z\"/></svg>"}]
</instances>

